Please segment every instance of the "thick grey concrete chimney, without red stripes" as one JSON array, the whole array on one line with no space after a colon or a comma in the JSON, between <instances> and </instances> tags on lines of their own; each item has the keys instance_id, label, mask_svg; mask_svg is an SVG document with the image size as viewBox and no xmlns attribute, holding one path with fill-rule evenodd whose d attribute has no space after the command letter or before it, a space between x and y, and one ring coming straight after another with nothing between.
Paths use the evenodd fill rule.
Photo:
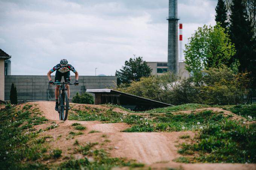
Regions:
<instances>
[{"instance_id":1,"label":"thick grey concrete chimney, without red stripes","mask_svg":"<svg viewBox=\"0 0 256 170\"><path fill-rule=\"evenodd\" d=\"M179 75L177 0L169 0L168 69Z\"/></svg>"}]
</instances>

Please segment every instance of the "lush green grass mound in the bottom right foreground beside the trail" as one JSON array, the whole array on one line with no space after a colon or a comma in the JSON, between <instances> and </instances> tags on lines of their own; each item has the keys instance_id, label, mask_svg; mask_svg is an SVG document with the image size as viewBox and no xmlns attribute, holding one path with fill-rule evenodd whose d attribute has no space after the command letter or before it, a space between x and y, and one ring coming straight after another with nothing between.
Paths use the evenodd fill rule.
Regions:
<instances>
[{"instance_id":1,"label":"lush green grass mound in the bottom right foreground beside the trail","mask_svg":"<svg viewBox=\"0 0 256 170\"><path fill-rule=\"evenodd\" d=\"M226 120L221 124L209 124L191 143L180 145L182 155L175 161L194 163L256 163L256 124L249 127L240 122Z\"/></svg>"}]
</instances>

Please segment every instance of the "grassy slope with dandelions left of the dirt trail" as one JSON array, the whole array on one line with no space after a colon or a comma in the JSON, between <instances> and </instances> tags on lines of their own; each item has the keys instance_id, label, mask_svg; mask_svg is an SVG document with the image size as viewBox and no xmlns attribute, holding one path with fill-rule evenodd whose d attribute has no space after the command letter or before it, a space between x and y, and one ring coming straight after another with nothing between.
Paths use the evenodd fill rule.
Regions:
<instances>
[{"instance_id":1,"label":"grassy slope with dandelions left of the dirt trail","mask_svg":"<svg viewBox=\"0 0 256 170\"><path fill-rule=\"evenodd\" d=\"M50 148L48 140L52 136L45 135L38 137L43 132L42 129L36 131L35 124L46 123L46 118L41 118L38 109L32 109L32 105L25 105L22 110L16 110L11 104L7 104L5 109L0 110L0 167L1 169L10 170L27 170L27 169L112 169L113 167L131 166L135 167L136 163L126 161L123 158L110 158L109 154L102 149L94 149L93 146L98 143L88 143L87 145L79 145L75 141L79 152L85 156L93 157L93 161L88 161L85 157L81 160L74 160L72 155L65 156L66 162L61 164L41 164L41 161L50 159L59 159L62 156L62 150L58 148ZM46 128L50 130L53 126ZM57 125L58 126L58 125ZM81 126L76 124L75 127ZM85 128L85 127L83 127ZM81 132L70 132L69 136L82 134ZM61 137L61 136L58 136ZM107 141L107 139L105 140ZM69 151L71 148L68 149ZM137 165L137 167L140 164Z\"/></svg>"}]
</instances>

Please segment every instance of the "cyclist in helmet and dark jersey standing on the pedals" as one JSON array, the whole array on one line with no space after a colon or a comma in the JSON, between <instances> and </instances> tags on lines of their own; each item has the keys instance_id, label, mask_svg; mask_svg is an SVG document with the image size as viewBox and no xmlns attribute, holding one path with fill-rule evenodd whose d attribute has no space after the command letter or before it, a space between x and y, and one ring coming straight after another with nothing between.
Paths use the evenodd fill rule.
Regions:
<instances>
[{"instance_id":1,"label":"cyclist in helmet and dark jersey standing on the pedals","mask_svg":"<svg viewBox=\"0 0 256 170\"><path fill-rule=\"evenodd\" d=\"M61 82L61 78L62 76L64 76L64 80L65 82L67 83L70 83L70 70L72 72L75 73L75 78L76 78L76 81L75 81L75 85L78 85L78 72L75 70L75 68L71 65L71 64L68 64L68 61L66 59L62 59L59 64L57 64L55 67L53 67L48 73L47 73L47 76L48 76L48 79L49 79L49 84L53 84L53 81L52 81L52 78L51 78L51 73L55 72L56 71L56 74L55 74L55 83L60 83ZM59 87L60 85L56 85L56 88L55 88L55 101L56 101L56 104L55 104L55 110L59 110L59 102L58 102L58 97L59 97ZM70 89L69 89L69 84L66 84L65 87L67 88L67 96L68 96L68 99L69 99L69 96L70 96ZM68 106L68 109L70 109L70 106Z\"/></svg>"}]
</instances>

